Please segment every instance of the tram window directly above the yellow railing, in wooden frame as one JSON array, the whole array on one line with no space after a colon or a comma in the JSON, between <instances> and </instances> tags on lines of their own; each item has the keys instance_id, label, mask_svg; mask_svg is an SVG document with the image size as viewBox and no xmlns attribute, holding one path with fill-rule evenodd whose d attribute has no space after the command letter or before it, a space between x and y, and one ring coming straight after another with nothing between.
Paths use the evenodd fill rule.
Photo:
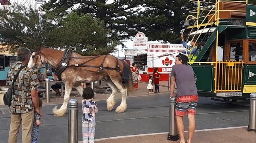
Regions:
<instances>
[{"instance_id":1,"label":"tram window directly above the yellow railing, in wooden frame","mask_svg":"<svg viewBox=\"0 0 256 143\"><path fill-rule=\"evenodd\" d=\"M230 43L230 61L243 60L243 42Z\"/></svg>"}]
</instances>

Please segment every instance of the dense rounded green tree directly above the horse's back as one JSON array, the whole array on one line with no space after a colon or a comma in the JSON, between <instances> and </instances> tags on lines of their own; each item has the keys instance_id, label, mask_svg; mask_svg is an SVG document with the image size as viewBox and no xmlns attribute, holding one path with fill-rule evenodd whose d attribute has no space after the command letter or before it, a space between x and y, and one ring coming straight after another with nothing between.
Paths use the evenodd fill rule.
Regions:
<instances>
[{"instance_id":1,"label":"dense rounded green tree directly above the horse's back","mask_svg":"<svg viewBox=\"0 0 256 143\"><path fill-rule=\"evenodd\" d=\"M104 22L90 15L71 13L59 20L46 41L53 47L66 47L82 55L100 55L115 52L116 41L107 37L109 29ZM108 44L107 44L108 43ZM82 52L86 49L86 52Z\"/></svg>"}]
</instances>

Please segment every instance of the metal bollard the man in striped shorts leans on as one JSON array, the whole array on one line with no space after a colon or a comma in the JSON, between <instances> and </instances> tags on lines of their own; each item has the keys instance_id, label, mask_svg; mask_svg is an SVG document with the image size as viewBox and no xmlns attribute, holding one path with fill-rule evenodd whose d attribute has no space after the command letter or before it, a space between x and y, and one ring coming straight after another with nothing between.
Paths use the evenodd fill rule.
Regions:
<instances>
[{"instance_id":1,"label":"metal bollard the man in striped shorts leans on","mask_svg":"<svg viewBox=\"0 0 256 143\"><path fill-rule=\"evenodd\" d=\"M170 98L170 110L169 110L169 134L167 139L170 141L177 141L179 139L178 129L175 118L175 105L177 98Z\"/></svg>"}]
</instances>

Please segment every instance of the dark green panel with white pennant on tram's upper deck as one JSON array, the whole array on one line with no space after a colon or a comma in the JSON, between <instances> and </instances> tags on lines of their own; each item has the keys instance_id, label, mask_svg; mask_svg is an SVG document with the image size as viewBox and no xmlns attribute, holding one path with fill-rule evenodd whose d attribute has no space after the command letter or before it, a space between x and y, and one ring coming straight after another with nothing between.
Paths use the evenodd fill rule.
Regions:
<instances>
[{"instance_id":1,"label":"dark green panel with white pennant on tram's upper deck","mask_svg":"<svg viewBox=\"0 0 256 143\"><path fill-rule=\"evenodd\" d=\"M246 25L256 25L256 5L247 4L246 6Z\"/></svg>"}]
</instances>

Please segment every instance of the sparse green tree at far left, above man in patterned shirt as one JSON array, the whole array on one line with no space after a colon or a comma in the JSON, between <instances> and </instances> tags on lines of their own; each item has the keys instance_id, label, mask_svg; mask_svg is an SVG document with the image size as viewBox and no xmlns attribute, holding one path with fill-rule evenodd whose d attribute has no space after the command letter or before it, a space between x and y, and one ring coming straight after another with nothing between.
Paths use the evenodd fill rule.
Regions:
<instances>
[{"instance_id":1,"label":"sparse green tree at far left, above man in patterned shirt","mask_svg":"<svg viewBox=\"0 0 256 143\"><path fill-rule=\"evenodd\" d=\"M8 13L0 10L0 42L9 45L11 51L17 47L34 49L43 42L42 23L38 13Z\"/></svg>"}]
</instances>

